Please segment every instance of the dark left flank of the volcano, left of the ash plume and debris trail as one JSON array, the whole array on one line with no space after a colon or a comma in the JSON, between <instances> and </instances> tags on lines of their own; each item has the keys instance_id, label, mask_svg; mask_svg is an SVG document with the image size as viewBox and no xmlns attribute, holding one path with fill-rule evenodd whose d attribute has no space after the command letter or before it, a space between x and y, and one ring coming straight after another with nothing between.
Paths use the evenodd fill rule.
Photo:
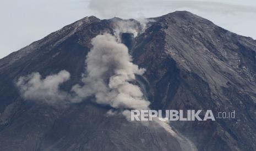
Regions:
<instances>
[{"instance_id":1,"label":"dark left flank of the volcano, left of the ash plume and debris trail","mask_svg":"<svg viewBox=\"0 0 256 151\"><path fill-rule=\"evenodd\" d=\"M72 75L62 85L70 90L80 82L91 38L112 33L111 26L108 20L84 18L0 61L0 150L181 150L163 129L107 118L108 107L86 102L49 106L18 94L14 82L20 76L40 72L45 77L62 69Z\"/></svg>"}]
</instances>

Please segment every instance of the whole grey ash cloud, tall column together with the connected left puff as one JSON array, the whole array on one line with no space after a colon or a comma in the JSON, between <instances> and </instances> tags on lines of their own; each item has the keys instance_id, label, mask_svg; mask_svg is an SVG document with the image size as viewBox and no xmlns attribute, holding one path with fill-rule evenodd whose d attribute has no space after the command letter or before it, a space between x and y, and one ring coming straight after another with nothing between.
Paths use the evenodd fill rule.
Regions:
<instances>
[{"instance_id":1,"label":"whole grey ash cloud, tall column together with the connected left puff","mask_svg":"<svg viewBox=\"0 0 256 151\"><path fill-rule=\"evenodd\" d=\"M87 72L81 78L84 85L74 85L72 92L64 92L59 86L69 80L69 72L61 71L45 79L40 73L32 73L16 82L21 96L50 104L81 102L94 96L95 102L118 109L148 109L150 102L144 100L139 86L130 83L135 74L142 75L145 69L132 63L126 45L110 34L96 36L91 43L93 48L85 60Z\"/></svg>"}]
</instances>

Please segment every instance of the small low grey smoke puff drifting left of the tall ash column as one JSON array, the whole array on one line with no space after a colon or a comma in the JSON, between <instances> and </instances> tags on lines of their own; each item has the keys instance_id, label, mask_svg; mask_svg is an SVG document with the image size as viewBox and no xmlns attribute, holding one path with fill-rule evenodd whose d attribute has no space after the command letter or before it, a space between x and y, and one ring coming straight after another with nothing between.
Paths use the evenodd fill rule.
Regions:
<instances>
[{"instance_id":1,"label":"small low grey smoke puff drifting left of the tall ash column","mask_svg":"<svg viewBox=\"0 0 256 151\"><path fill-rule=\"evenodd\" d=\"M59 86L69 80L70 74L67 71L60 71L42 79L40 73L32 73L25 77L20 77L16 85L20 94L26 100L45 101L46 103L56 103L67 99L67 92L59 90Z\"/></svg>"}]
</instances>

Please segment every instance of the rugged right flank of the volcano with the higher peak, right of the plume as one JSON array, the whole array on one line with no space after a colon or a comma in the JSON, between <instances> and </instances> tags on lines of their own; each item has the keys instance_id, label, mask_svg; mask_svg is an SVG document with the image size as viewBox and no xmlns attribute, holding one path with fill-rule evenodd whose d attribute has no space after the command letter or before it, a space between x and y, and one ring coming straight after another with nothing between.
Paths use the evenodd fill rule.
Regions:
<instances>
[{"instance_id":1,"label":"rugged right flank of the volcano with the higher peak, right of the plume","mask_svg":"<svg viewBox=\"0 0 256 151\"><path fill-rule=\"evenodd\" d=\"M133 55L156 109L236 111L236 119L173 122L199 150L254 150L256 41L186 11L156 18Z\"/></svg>"}]
</instances>

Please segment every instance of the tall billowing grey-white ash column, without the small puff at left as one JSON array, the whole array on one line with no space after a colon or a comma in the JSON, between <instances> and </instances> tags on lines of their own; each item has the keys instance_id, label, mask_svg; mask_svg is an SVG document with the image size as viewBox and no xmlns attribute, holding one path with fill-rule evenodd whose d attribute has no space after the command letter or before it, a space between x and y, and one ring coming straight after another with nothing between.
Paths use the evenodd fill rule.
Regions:
<instances>
[{"instance_id":1,"label":"tall billowing grey-white ash column, without the small puff at left","mask_svg":"<svg viewBox=\"0 0 256 151\"><path fill-rule=\"evenodd\" d=\"M81 99L94 95L97 103L114 108L149 108L139 86L131 83L135 74L142 75L145 69L132 63L128 48L110 34L96 36L92 45L85 61L84 86L75 85L72 91Z\"/></svg>"}]
</instances>

